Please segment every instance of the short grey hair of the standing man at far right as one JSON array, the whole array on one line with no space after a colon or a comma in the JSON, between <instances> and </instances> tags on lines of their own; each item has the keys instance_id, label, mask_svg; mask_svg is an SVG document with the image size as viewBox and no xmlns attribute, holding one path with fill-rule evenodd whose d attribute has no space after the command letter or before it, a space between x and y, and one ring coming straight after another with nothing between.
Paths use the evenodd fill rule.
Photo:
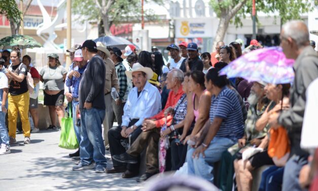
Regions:
<instances>
[{"instance_id":1,"label":"short grey hair of the standing man at far right","mask_svg":"<svg viewBox=\"0 0 318 191\"><path fill-rule=\"evenodd\" d=\"M306 24L301 20L292 20L282 25L285 38L292 38L298 47L309 42L309 32Z\"/></svg>"}]
</instances>

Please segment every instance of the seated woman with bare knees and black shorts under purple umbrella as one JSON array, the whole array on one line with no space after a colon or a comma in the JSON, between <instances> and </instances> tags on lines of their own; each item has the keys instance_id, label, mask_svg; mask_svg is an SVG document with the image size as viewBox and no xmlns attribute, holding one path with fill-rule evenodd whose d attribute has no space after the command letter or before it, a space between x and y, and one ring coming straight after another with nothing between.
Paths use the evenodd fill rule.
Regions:
<instances>
[{"instance_id":1,"label":"seated woman with bare knees and black shorts under purple umbrella","mask_svg":"<svg viewBox=\"0 0 318 191\"><path fill-rule=\"evenodd\" d=\"M263 115L256 122L256 130L263 131L269 121L269 116L272 112L279 111L282 106L282 101L288 102L290 84L267 84L265 86L266 96L271 103L266 108ZM276 104L278 103L278 104ZM263 139L262 143L258 146L265 150L267 148L268 139ZM272 158L268 155L267 150L258 152L251 156L247 161L235 160L234 169L236 174L236 183L238 190L251 190L252 189L252 171L264 165L274 165Z\"/></svg>"}]
</instances>

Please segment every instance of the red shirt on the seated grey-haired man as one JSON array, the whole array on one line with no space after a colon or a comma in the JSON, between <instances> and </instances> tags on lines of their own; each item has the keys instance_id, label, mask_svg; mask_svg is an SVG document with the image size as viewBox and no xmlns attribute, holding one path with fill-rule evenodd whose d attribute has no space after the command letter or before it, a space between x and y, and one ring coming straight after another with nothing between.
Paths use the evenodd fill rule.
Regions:
<instances>
[{"instance_id":1,"label":"red shirt on the seated grey-haired man","mask_svg":"<svg viewBox=\"0 0 318 191\"><path fill-rule=\"evenodd\" d=\"M174 93L174 91L169 92L167 103L166 103L166 106L164 107L164 109L160 113L158 113L157 115L150 118L150 119L156 119L155 123L156 123L157 128L160 128L165 123L164 111L168 107L174 108L175 104L178 103L178 101L181 98L181 95L183 95L183 94L184 94L184 91L182 90L182 85L178 89L178 92L176 92L176 93ZM172 116L169 115L169 116L167 116L167 125L170 125L171 122L172 122Z\"/></svg>"}]
</instances>

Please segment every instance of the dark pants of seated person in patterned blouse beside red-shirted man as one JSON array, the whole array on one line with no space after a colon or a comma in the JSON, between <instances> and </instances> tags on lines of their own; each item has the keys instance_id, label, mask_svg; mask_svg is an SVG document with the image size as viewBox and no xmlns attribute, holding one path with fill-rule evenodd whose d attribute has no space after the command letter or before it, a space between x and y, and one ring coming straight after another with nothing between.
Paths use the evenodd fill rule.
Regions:
<instances>
[{"instance_id":1,"label":"dark pants of seated person in patterned blouse beside red-shirted man","mask_svg":"<svg viewBox=\"0 0 318 191\"><path fill-rule=\"evenodd\" d=\"M170 143L171 149L171 170L176 171L183 166L186 161L187 156L187 148L188 145L184 145L179 143L178 145L175 143L175 139L173 139Z\"/></svg>"}]
</instances>

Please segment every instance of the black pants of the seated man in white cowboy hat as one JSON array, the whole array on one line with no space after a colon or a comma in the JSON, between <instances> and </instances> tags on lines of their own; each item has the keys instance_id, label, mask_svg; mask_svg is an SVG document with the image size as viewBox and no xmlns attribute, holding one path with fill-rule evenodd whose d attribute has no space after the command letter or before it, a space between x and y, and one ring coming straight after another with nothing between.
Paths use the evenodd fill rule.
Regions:
<instances>
[{"instance_id":1,"label":"black pants of the seated man in white cowboy hat","mask_svg":"<svg viewBox=\"0 0 318 191\"><path fill-rule=\"evenodd\" d=\"M137 121L138 121L138 119L131 120L128 127L133 125ZM137 139L139 134L142 133L141 128L142 128L142 126L140 125L140 126L138 126L138 128L135 131L132 132L131 138L130 138L130 144L132 144ZM120 126L112 128L108 131L108 141L110 144L110 151L111 151L112 156L126 152L126 149L122 146L120 141L124 140L124 139L128 139L128 138L122 137L120 134L121 131L122 131L122 129ZM138 158L137 164L128 164L127 169L129 171L132 171L132 172L137 172L139 170L139 161L140 160ZM116 167L120 167L120 166L125 166L126 164L113 160L113 165L116 168Z\"/></svg>"}]
</instances>

